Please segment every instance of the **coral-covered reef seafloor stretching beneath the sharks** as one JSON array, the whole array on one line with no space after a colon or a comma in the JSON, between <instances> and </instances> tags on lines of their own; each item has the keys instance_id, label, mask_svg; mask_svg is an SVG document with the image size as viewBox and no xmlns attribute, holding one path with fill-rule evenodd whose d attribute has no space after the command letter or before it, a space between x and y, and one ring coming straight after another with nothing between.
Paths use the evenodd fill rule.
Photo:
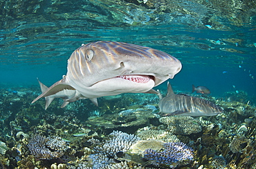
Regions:
<instances>
[{"instance_id":1,"label":"coral-covered reef seafloor stretching beneath the sharks","mask_svg":"<svg viewBox=\"0 0 256 169\"><path fill-rule=\"evenodd\" d=\"M60 108L56 99L44 110L44 99L30 104L38 88L1 89L1 168L255 168L256 109L233 94L203 97L223 108L214 117L160 117L153 94L102 97L100 107ZM164 143L179 142L191 158L165 152ZM146 158L149 148L181 159Z\"/></svg>"}]
</instances>

